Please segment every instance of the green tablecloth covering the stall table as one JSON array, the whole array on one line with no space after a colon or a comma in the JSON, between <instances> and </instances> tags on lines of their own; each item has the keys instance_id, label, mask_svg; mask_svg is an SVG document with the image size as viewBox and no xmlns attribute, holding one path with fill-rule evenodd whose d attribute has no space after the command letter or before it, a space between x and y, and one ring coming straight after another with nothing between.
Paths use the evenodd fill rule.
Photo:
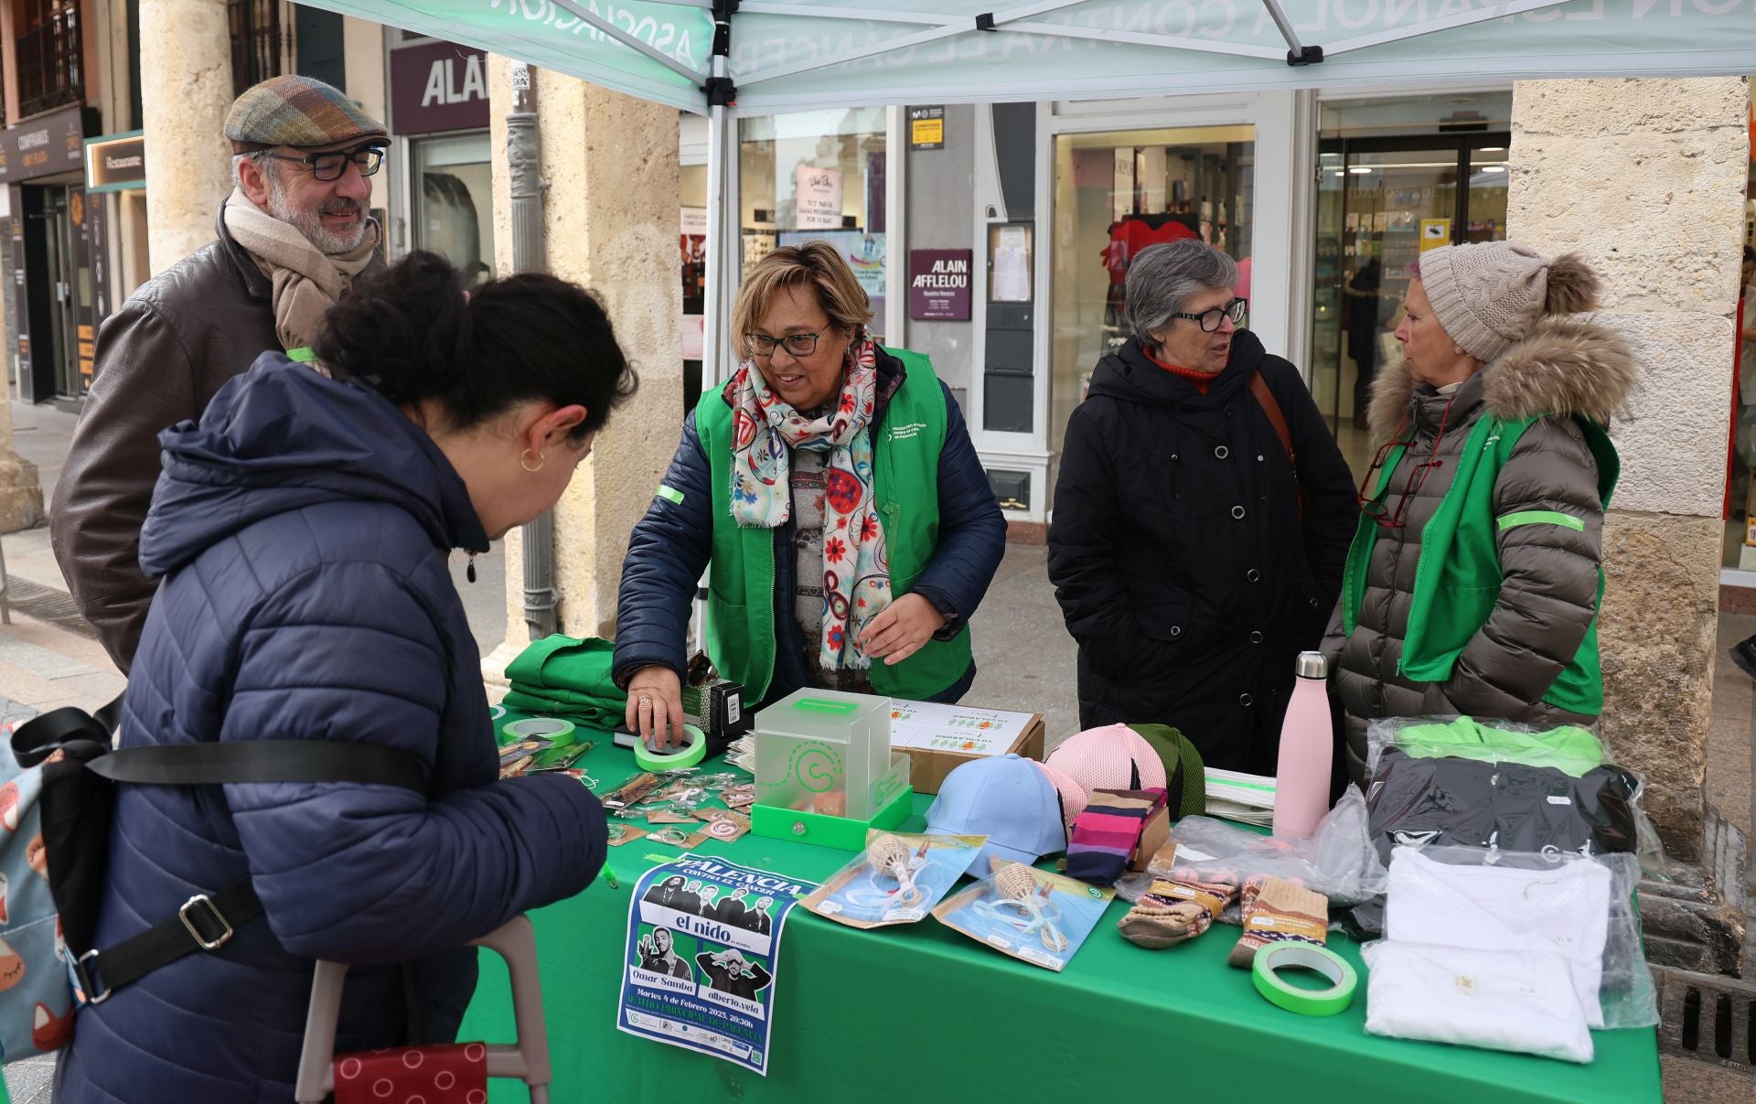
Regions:
<instances>
[{"instance_id":1,"label":"green tablecloth covering the stall table","mask_svg":"<svg viewBox=\"0 0 1756 1104\"><path fill-rule=\"evenodd\" d=\"M634 756L608 735L581 760L608 792ZM931 797L917 797L918 830ZM557 841L565 846L562 841ZM1008 958L934 920L862 932L794 909L781 939L769 1076L616 1030L629 893L673 850L648 841L611 848L620 888L530 914L537 932L557 1102L574 1100L1071 1100L1092 1093L1292 1099L1301 1104L1422 1100L1661 1100L1652 1029L1593 1032L1596 1060L1570 1065L1528 1055L1378 1039L1364 1032L1359 948L1331 946L1361 972L1340 1016L1308 1018L1257 995L1226 965L1238 928L1213 925L1180 948L1148 951L1105 921L1061 974ZM822 881L843 851L745 835L704 842L704 855ZM499 957L464 1039L513 1039ZM492 1081L490 1100L523 1100Z\"/></svg>"}]
</instances>

